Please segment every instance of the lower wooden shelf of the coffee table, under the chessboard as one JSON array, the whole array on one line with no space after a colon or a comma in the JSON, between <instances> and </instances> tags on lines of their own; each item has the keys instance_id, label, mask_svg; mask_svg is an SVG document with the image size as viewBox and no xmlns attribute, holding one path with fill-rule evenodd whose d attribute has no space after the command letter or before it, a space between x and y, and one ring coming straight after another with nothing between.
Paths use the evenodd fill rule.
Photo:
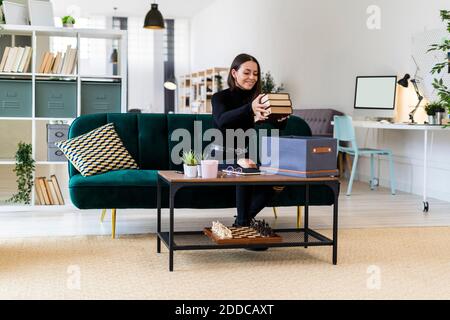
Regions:
<instances>
[{"instance_id":1,"label":"lower wooden shelf of the coffee table, under the chessboard","mask_svg":"<svg viewBox=\"0 0 450 320\"><path fill-rule=\"evenodd\" d=\"M214 250L214 249L240 249L253 247L313 247L332 246L333 240L326 236L308 229L279 229L274 230L282 240L267 244L217 244L206 236L202 231L175 232L173 234L173 250ZM169 232L160 232L158 237L169 248Z\"/></svg>"}]
</instances>

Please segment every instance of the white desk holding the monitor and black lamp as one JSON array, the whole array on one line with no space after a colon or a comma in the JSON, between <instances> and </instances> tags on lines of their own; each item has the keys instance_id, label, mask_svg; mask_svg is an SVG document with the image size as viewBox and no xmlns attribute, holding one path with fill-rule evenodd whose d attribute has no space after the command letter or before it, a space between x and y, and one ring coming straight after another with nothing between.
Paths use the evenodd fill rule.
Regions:
<instances>
[{"instance_id":1,"label":"white desk holding the monitor and black lamp","mask_svg":"<svg viewBox=\"0 0 450 320\"><path fill-rule=\"evenodd\" d=\"M406 124L406 123L381 123L378 121L353 121L355 128L380 129L380 130L415 130L423 131L423 211L430 210L430 204L427 200L427 167L428 167L428 132L433 135L435 131L446 130L450 132L450 128L443 126L425 125L425 124Z\"/></svg>"}]
</instances>

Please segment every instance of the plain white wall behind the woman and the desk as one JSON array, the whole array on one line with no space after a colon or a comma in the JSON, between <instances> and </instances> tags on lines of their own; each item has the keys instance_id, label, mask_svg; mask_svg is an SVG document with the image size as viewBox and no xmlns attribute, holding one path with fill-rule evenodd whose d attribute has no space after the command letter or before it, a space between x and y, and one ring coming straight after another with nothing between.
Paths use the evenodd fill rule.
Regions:
<instances>
[{"instance_id":1,"label":"plain white wall behind the woman and the desk","mask_svg":"<svg viewBox=\"0 0 450 320\"><path fill-rule=\"evenodd\" d=\"M370 5L381 9L380 30L367 28ZM247 52L285 84L294 107L332 107L352 114L357 75L414 74L412 37L443 29L440 9L448 9L448 0L216 0L192 19L191 69L229 66L237 54ZM400 120L415 104L411 90L399 92ZM359 134L361 142L372 146L376 136ZM394 151L400 189L421 193L422 135L386 131L378 138L379 147ZM448 139L449 133L435 136L428 190L450 201ZM387 185L388 171L381 163L381 182ZM360 171L366 180L364 160Z\"/></svg>"}]
</instances>

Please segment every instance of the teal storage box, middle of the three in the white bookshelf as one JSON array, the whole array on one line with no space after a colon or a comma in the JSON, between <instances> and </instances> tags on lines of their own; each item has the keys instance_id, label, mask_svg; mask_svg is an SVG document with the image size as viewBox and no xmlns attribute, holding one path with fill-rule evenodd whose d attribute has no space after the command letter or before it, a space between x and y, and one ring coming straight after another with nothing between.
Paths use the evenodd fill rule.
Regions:
<instances>
[{"instance_id":1,"label":"teal storage box, middle of the three in the white bookshelf","mask_svg":"<svg viewBox=\"0 0 450 320\"><path fill-rule=\"evenodd\" d=\"M36 81L36 117L76 118L77 83L75 81Z\"/></svg>"}]
</instances>

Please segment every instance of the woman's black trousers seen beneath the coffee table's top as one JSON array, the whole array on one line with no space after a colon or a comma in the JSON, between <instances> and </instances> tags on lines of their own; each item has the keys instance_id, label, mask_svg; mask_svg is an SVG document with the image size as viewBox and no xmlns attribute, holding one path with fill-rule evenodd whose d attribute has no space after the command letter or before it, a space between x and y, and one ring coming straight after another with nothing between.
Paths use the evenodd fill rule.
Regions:
<instances>
[{"instance_id":1,"label":"woman's black trousers seen beneath the coffee table's top","mask_svg":"<svg viewBox=\"0 0 450 320\"><path fill-rule=\"evenodd\" d=\"M275 190L272 186L236 186L236 223L248 226L272 200Z\"/></svg>"}]
</instances>

